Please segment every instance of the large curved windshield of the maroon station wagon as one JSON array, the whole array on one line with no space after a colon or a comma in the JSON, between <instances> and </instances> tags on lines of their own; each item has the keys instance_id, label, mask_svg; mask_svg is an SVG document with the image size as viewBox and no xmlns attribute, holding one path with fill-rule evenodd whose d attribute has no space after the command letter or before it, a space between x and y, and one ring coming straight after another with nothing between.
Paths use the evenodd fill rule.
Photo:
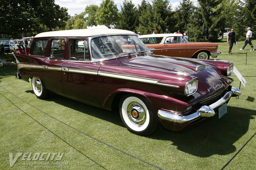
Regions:
<instances>
[{"instance_id":1,"label":"large curved windshield of the maroon station wagon","mask_svg":"<svg viewBox=\"0 0 256 170\"><path fill-rule=\"evenodd\" d=\"M105 59L125 54L150 52L135 35L113 35L97 37L91 40L92 57Z\"/></svg>"}]
</instances>

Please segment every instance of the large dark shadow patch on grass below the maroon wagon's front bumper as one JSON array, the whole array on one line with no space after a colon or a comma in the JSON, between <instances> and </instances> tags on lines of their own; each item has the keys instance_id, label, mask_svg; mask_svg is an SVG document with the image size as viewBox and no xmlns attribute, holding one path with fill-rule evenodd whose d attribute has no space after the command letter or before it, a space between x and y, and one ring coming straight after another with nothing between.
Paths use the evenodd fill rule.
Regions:
<instances>
[{"instance_id":1,"label":"large dark shadow patch on grass below the maroon wagon's front bumper","mask_svg":"<svg viewBox=\"0 0 256 170\"><path fill-rule=\"evenodd\" d=\"M150 137L168 140L172 142L170 145L176 145L178 150L198 157L233 153L236 150L234 143L247 133L250 119L254 119L256 111L230 106L227 110L228 113L221 119L215 115L186 132L175 133L161 128Z\"/></svg>"}]
</instances>

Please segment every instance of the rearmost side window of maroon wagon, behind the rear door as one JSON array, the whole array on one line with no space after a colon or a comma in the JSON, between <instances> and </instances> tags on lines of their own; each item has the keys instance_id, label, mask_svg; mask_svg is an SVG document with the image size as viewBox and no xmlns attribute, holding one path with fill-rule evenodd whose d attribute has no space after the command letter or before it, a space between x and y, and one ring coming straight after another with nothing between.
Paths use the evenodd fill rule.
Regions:
<instances>
[{"instance_id":1,"label":"rearmost side window of maroon wagon, behind the rear door","mask_svg":"<svg viewBox=\"0 0 256 170\"><path fill-rule=\"evenodd\" d=\"M35 56L44 56L46 47L47 40L36 40L33 42L29 54Z\"/></svg>"}]
</instances>

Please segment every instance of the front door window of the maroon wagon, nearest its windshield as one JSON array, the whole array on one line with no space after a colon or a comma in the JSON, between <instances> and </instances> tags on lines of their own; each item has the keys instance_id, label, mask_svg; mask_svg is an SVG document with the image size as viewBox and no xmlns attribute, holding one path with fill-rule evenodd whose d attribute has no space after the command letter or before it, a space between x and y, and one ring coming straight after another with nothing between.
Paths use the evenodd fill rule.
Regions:
<instances>
[{"instance_id":1,"label":"front door window of the maroon wagon, nearest its windshield","mask_svg":"<svg viewBox=\"0 0 256 170\"><path fill-rule=\"evenodd\" d=\"M69 41L69 59L78 61L89 61L88 44L86 39L71 39Z\"/></svg>"}]
</instances>

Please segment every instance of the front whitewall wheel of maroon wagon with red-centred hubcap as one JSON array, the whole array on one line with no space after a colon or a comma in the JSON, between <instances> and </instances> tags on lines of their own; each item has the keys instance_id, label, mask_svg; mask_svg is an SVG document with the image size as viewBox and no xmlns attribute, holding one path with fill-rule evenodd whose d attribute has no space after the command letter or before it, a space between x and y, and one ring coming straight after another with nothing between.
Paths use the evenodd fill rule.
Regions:
<instances>
[{"instance_id":1,"label":"front whitewall wheel of maroon wagon with red-centred hubcap","mask_svg":"<svg viewBox=\"0 0 256 170\"><path fill-rule=\"evenodd\" d=\"M148 136L159 127L151 105L144 97L123 96L119 103L119 112L127 129L137 135Z\"/></svg>"}]
</instances>

